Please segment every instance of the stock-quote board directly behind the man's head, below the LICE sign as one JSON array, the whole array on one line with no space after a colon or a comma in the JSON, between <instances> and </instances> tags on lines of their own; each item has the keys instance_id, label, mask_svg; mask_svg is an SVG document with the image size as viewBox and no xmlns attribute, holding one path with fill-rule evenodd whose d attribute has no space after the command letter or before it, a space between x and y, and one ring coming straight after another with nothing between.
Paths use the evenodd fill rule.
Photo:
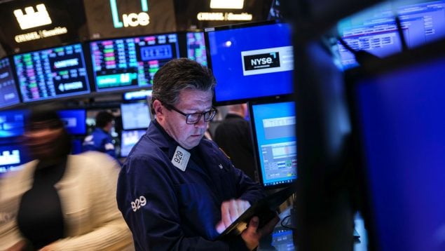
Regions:
<instances>
[{"instance_id":1,"label":"stock-quote board directly behind the man's head, below the LICE sign","mask_svg":"<svg viewBox=\"0 0 445 251\"><path fill-rule=\"evenodd\" d=\"M97 92L151 88L158 69L179 57L177 34L90 42Z\"/></svg>"}]
</instances>

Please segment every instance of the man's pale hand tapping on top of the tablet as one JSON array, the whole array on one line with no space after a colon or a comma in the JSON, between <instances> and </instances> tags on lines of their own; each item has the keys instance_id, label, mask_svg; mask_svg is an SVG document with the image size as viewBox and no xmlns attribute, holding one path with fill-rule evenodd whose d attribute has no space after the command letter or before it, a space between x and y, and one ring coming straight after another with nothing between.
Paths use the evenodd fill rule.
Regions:
<instances>
[{"instance_id":1,"label":"man's pale hand tapping on top of the tablet","mask_svg":"<svg viewBox=\"0 0 445 251\"><path fill-rule=\"evenodd\" d=\"M228 226L235 222L245 210L250 208L249 201L230 200L221 204L221 221L218 222L216 228L218 233L224 232Z\"/></svg>"}]
</instances>

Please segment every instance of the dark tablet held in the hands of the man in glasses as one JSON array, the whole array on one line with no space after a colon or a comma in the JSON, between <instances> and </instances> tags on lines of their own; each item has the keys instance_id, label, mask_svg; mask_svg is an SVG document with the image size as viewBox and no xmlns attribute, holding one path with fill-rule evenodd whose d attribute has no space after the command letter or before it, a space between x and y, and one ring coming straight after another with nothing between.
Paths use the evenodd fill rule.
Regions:
<instances>
[{"instance_id":1,"label":"dark tablet held in the hands of the man in glasses","mask_svg":"<svg viewBox=\"0 0 445 251\"><path fill-rule=\"evenodd\" d=\"M235 222L228 226L227 229L218 236L218 239L221 240L228 236L236 236L240 234L246 228L247 224L249 224L250 219L254 216L259 217L258 227L261 229L263 225L267 224L271 219L278 215L276 212L277 208L284 203L287 198L292 196L295 190L296 186L292 184L285 189L281 189L280 191L257 201L249 209L243 212L238 219L235 219Z\"/></svg>"}]
</instances>

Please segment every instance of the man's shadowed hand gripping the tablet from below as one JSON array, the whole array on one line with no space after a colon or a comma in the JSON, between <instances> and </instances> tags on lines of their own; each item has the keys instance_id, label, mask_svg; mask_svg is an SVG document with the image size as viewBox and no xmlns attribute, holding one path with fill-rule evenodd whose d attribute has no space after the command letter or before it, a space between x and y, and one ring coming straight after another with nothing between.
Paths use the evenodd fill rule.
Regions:
<instances>
[{"instance_id":1,"label":"man's shadowed hand gripping the tablet from below","mask_svg":"<svg viewBox=\"0 0 445 251\"><path fill-rule=\"evenodd\" d=\"M273 228L279 221L280 217L278 217L277 215L261 229L258 229L259 218L256 216L252 217L252 219L250 219L249 226L247 226L247 229L245 229L241 233L241 238L246 243L247 248L249 250L253 250L255 247L258 247L259 240L261 240L263 236L267 236L268 234L272 233Z\"/></svg>"}]
</instances>

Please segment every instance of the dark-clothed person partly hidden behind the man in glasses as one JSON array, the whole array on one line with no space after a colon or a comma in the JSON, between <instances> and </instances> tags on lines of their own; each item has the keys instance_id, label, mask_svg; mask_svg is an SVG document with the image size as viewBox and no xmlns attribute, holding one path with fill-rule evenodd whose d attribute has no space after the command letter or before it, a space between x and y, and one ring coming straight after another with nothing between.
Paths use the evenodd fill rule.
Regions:
<instances>
[{"instance_id":1,"label":"dark-clothed person partly hidden behind the man in glasses","mask_svg":"<svg viewBox=\"0 0 445 251\"><path fill-rule=\"evenodd\" d=\"M246 115L247 104L228 105L228 113L215 129L213 140L231 158L236 168L240 168L250 178L258 180Z\"/></svg>"}]
</instances>

